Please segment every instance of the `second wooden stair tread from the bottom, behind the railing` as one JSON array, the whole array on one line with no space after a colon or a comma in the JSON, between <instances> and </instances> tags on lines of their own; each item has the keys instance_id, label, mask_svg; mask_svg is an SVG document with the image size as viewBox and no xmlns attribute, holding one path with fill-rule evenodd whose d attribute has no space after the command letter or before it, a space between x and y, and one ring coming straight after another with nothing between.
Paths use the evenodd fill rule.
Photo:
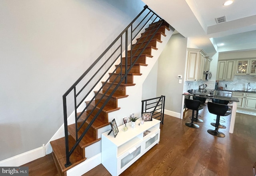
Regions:
<instances>
[{"instance_id":1,"label":"second wooden stair tread from the bottom, behind the railing","mask_svg":"<svg viewBox=\"0 0 256 176\"><path fill-rule=\"evenodd\" d=\"M75 138L76 136L76 126L75 124L68 126L68 132L70 132L70 135ZM82 130L78 131L78 137L82 135ZM95 139L92 136L85 134L80 143L78 144L81 148L86 148L98 141L100 141L101 138Z\"/></svg>"}]
</instances>

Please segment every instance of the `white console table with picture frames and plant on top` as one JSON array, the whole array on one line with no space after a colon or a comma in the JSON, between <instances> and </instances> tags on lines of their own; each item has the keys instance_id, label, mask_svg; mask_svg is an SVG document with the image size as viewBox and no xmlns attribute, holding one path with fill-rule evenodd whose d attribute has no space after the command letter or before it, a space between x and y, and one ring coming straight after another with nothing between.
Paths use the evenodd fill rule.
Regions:
<instances>
[{"instance_id":1,"label":"white console table with picture frames and plant on top","mask_svg":"<svg viewBox=\"0 0 256 176\"><path fill-rule=\"evenodd\" d=\"M158 144L160 120L153 118L152 121L144 124L138 125L139 123L140 120L137 120L135 128L131 127L131 122L127 123L126 132L122 130L123 125L119 126L116 138L112 132L108 135L109 131L102 134L102 164L112 176L120 175L150 148ZM146 130L150 133L143 137Z\"/></svg>"}]
</instances>

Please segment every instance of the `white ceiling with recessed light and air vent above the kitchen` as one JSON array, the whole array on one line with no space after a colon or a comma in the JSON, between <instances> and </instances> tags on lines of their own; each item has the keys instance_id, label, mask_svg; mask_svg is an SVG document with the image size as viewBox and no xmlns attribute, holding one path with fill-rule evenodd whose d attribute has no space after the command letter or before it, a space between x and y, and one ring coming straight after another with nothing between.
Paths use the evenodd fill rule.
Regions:
<instances>
[{"instance_id":1,"label":"white ceiling with recessed light and air vent above the kitchen","mask_svg":"<svg viewBox=\"0 0 256 176\"><path fill-rule=\"evenodd\" d=\"M256 50L256 0L143 0L206 53ZM217 24L215 18L226 16ZM220 45L222 44L222 46Z\"/></svg>"}]
</instances>

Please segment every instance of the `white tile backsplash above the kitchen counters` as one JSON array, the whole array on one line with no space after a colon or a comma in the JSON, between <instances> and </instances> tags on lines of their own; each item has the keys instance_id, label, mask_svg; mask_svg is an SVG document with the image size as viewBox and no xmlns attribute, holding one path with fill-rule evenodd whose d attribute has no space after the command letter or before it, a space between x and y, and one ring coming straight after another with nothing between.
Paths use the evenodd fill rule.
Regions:
<instances>
[{"instance_id":1,"label":"white tile backsplash above the kitchen counters","mask_svg":"<svg viewBox=\"0 0 256 176\"><path fill-rule=\"evenodd\" d=\"M227 88L229 90L246 90L248 82L250 82L250 90L256 91L256 76L251 75L235 75L233 81L219 81L218 87ZM190 86L188 85L190 84ZM215 81L185 81L183 86L183 92L188 92L190 89L197 90L199 85L207 84L206 89L214 89Z\"/></svg>"}]
</instances>

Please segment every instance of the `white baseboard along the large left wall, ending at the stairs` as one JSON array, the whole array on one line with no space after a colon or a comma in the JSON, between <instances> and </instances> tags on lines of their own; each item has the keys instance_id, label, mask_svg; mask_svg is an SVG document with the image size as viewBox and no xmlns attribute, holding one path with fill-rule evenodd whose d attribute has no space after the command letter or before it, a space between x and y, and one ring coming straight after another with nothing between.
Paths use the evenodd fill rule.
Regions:
<instances>
[{"instance_id":1,"label":"white baseboard along the large left wall, ending at the stairs","mask_svg":"<svg viewBox=\"0 0 256 176\"><path fill-rule=\"evenodd\" d=\"M18 167L45 156L45 146L0 161L1 167Z\"/></svg>"}]
</instances>

